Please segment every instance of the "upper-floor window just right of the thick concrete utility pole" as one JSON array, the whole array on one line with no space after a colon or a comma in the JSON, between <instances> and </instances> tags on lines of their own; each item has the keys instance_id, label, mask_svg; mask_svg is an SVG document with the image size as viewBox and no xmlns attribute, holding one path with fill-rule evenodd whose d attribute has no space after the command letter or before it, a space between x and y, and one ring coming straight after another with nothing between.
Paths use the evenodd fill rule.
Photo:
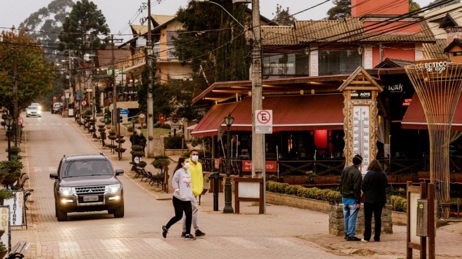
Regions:
<instances>
[{"instance_id":1,"label":"upper-floor window just right of the thick concrete utility pole","mask_svg":"<svg viewBox=\"0 0 462 259\"><path fill-rule=\"evenodd\" d=\"M275 79L308 75L308 56L304 53L265 53L263 78Z\"/></svg>"}]
</instances>

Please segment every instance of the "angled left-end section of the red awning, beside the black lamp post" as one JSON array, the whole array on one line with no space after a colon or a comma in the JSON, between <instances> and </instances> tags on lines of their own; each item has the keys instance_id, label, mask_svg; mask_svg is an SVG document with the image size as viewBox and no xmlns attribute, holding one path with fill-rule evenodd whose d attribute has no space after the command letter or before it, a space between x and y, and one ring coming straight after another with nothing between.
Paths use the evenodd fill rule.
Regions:
<instances>
[{"instance_id":1,"label":"angled left-end section of the red awning, beside the black lamp post","mask_svg":"<svg viewBox=\"0 0 462 259\"><path fill-rule=\"evenodd\" d=\"M224 123L224 117L229 113L233 114L240 102L231 102L223 104L215 104L208 110L204 117L199 121L194 130L192 130L192 137L214 136L218 135L221 124Z\"/></svg>"}]
</instances>

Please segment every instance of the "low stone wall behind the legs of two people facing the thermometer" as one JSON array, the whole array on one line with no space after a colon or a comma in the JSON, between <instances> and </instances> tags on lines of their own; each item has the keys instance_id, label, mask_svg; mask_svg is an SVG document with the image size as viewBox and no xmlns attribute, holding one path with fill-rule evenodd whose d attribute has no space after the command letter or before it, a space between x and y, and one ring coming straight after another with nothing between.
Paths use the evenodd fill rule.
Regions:
<instances>
[{"instance_id":1,"label":"low stone wall behind the legs of two people facing the thermometer","mask_svg":"<svg viewBox=\"0 0 462 259\"><path fill-rule=\"evenodd\" d=\"M392 206L386 205L382 211L382 233L393 233L392 222ZM364 233L364 210L361 209L358 213L358 220L356 221L356 235L362 236ZM329 206L329 234L332 235L345 235L345 225L343 221L343 209L341 205ZM372 234L374 234L374 217L372 217Z\"/></svg>"}]
</instances>

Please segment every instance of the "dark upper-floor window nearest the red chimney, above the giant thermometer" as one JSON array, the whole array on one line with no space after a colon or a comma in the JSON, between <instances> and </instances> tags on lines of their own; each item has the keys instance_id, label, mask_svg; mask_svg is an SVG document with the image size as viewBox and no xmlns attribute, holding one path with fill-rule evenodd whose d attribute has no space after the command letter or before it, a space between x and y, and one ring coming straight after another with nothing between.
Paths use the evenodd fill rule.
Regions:
<instances>
[{"instance_id":1,"label":"dark upper-floor window nearest the red chimney, above the giant thermometer","mask_svg":"<svg viewBox=\"0 0 462 259\"><path fill-rule=\"evenodd\" d=\"M320 76L349 74L362 65L362 56L357 50L320 50L318 65Z\"/></svg>"}]
</instances>

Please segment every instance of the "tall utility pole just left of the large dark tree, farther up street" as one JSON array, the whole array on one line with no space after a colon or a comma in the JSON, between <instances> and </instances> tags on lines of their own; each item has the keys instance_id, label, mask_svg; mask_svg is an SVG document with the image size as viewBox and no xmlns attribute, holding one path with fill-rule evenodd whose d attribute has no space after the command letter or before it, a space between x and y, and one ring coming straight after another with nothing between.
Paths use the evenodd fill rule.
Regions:
<instances>
[{"instance_id":1,"label":"tall utility pole just left of the large dark tree, farther up street","mask_svg":"<svg viewBox=\"0 0 462 259\"><path fill-rule=\"evenodd\" d=\"M152 37L151 37L151 1L148 0L148 35L146 40L146 68L148 70L148 96L147 96L147 157L154 157L154 116L152 97Z\"/></svg>"}]
</instances>

